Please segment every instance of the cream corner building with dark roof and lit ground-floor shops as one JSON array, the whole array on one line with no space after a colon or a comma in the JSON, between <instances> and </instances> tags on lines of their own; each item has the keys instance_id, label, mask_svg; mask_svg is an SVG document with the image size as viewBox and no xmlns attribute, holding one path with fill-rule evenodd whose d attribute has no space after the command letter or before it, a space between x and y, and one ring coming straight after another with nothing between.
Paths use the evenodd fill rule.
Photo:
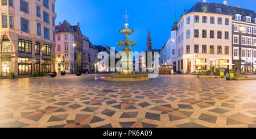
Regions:
<instances>
[{"instance_id":1,"label":"cream corner building with dark roof and lit ground-floor shops","mask_svg":"<svg viewBox=\"0 0 256 139\"><path fill-rule=\"evenodd\" d=\"M226 1L184 10L177 23L176 70L232 69L232 16Z\"/></svg>"}]
</instances>

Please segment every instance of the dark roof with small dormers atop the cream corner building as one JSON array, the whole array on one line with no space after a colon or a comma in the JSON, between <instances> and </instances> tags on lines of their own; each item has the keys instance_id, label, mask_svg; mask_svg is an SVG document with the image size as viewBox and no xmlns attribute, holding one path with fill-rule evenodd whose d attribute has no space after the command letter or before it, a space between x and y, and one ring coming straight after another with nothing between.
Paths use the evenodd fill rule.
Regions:
<instances>
[{"instance_id":1,"label":"dark roof with small dormers atop the cream corner building","mask_svg":"<svg viewBox=\"0 0 256 139\"><path fill-rule=\"evenodd\" d=\"M207 10L201 9L202 6L206 6ZM221 7L221 12L217 12L217 7ZM191 9L185 11L185 14L189 14L191 12L208 12L213 14L224 14L224 15L232 15L229 10L228 5L224 5L222 3L209 3L209 2L197 2Z\"/></svg>"}]
</instances>

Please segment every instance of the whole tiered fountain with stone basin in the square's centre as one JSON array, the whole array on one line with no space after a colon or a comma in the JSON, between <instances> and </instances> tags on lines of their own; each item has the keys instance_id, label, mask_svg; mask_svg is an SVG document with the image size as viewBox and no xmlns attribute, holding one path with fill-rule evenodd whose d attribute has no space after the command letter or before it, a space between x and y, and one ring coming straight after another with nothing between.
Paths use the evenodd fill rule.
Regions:
<instances>
[{"instance_id":1,"label":"whole tiered fountain with stone basin in the square's centre","mask_svg":"<svg viewBox=\"0 0 256 139\"><path fill-rule=\"evenodd\" d=\"M134 73L133 71L133 50L129 48L129 45L131 47L135 47L136 41L132 42L128 39L128 35L131 35L134 31L130 28L128 28L128 18L129 16L125 15L125 28L122 30L119 30L119 32L122 35L125 35L125 41L120 41L118 44L118 47L121 48L123 45L125 45L125 48L121 50L122 58L121 58L121 65L122 68L119 73L113 73L113 74L104 74L104 78L106 81L148 81L150 78L148 78L148 74L142 74L142 73ZM126 57L126 58L123 58ZM131 66L132 65L132 66Z\"/></svg>"}]
</instances>

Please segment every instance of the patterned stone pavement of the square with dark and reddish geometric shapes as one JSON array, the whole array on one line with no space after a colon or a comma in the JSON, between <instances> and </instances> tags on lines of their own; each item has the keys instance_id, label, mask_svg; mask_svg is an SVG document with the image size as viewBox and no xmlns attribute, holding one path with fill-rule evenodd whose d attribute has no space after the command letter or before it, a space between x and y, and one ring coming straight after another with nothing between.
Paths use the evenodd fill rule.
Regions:
<instances>
[{"instance_id":1,"label":"patterned stone pavement of the square with dark and reddish geometric shapes","mask_svg":"<svg viewBox=\"0 0 256 139\"><path fill-rule=\"evenodd\" d=\"M256 81L98 77L0 79L0 127L256 127Z\"/></svg>"}]
</instances>

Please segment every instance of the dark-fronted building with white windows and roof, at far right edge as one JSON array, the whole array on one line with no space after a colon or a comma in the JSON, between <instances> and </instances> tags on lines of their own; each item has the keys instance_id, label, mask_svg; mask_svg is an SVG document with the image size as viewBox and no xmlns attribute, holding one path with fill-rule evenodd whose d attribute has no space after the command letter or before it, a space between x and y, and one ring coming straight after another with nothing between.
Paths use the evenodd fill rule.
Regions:
<instances>
[{"instance_id":1,"label":"dark-fronted building with white windows and roof, at far right edge","mask_svg":"<svg viewBox=\"0 0 256 139\"><path fill-rule=\"evenodd\" d=\"M229 6L233 15L233 64L238 72L256 72L256 14Z\"/></svg>"}]
</instances>

